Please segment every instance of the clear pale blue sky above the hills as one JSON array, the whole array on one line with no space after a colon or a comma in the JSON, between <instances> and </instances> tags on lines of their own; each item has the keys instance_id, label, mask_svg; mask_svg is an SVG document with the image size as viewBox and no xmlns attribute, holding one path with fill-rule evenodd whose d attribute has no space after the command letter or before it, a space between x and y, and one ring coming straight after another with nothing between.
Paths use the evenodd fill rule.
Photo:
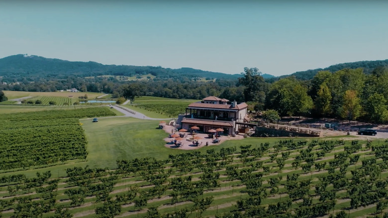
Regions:
<instances>
[{"instance_id":1,"label":"clear pale blue sky above the hills","mask_svg":"<svg viewBox=\"0 0 388 218\"><path fill-rule=\"evenodd\" d=\"M0 58L275 76L388 59L387 1L0 1Z\"/></svg>"}]
</instances>

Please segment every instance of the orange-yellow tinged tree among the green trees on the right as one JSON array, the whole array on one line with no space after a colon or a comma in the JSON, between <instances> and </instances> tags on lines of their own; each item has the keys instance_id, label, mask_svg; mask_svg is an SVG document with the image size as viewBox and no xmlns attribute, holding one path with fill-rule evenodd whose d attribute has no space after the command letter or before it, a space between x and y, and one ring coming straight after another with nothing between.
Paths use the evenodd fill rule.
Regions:
<instances>
[{"instance_id":1,"label":"orange-yellow tinged tree among the green trees on the right","mask_svg":"<svg viewBox=\"0 0 388 218\"><path fill-rule=\"evenodd\" d=\"M347 90L343 97L343 105L341 109L341 117L350 120L357 119L361 115L360 99L357 97L357 92Z\"/></svg>"}]
</instances>

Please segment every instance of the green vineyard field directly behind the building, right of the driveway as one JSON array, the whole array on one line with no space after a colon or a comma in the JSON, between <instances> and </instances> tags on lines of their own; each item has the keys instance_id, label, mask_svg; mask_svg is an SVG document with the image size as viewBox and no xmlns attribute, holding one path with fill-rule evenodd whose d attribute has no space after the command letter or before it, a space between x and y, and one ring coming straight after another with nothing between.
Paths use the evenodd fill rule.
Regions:
<instances>
[{"instance_id":1,"label":"green vineyard field directly behind the building, right of the driveway","mask_svg":"<svg viewBox=\"0 0 388 218\"><path fill-rule=\"evenodd\" d=\"M153 118L169 118L177 117L178 114L184 113L188 105L197 101L199 100L167 99L147 96L136 98L132 105L124 107L144 113Z\"/></svg>"}]
</instances>

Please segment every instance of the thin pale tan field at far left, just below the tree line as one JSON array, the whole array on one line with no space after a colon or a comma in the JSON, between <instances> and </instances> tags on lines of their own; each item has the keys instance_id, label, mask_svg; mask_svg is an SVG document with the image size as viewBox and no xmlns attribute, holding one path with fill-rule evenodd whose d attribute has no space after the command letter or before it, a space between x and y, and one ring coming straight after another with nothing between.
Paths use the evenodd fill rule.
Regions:
<instances>
[{"instance_id":1,"label":"thin pale tan field at far left, just below the tree line","mask_svg":"<svg viewBox=\"0 0 388 218\"><path fill-rule=\"evenodd\" d=\"M103 94L101 93L91 93L91 92L78 92L78 93L72 93L72 92L19 92L19 91L3 91L5 96L8 98L8 100L11 99L18 99L28 96L52 96L52 97L69 97L73 96L73 98L78 99L80 96L88 95L89 99L95 99L98 96L101 96Z\"/></svg>"}]
</instances>

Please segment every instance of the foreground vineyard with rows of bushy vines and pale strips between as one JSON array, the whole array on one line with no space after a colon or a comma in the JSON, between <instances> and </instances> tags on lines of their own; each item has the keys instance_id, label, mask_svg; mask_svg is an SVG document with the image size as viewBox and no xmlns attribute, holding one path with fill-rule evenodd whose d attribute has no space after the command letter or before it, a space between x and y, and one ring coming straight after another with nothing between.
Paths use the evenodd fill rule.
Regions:
<instances>
[{"instance_id":1,"label":"foreground vineyard with rows of bushy vines and pale strips between","mask_svg":"<svg viewBox=\"0 0 388 218\"><path fill-rule=\"evenodd\" d=\"M280 140L0 178L2 217L387 217L388 141Z\"/></svg>"}]
</instances>

